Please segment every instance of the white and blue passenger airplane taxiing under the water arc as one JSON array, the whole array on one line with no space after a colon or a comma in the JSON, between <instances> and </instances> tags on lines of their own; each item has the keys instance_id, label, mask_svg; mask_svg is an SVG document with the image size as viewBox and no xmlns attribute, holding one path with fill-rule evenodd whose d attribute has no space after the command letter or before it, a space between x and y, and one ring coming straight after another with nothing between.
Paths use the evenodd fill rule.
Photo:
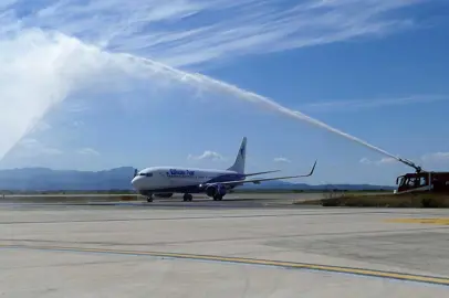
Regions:
<instances>
[{"instance_id":1,"label":"white and blue passenger airplane taxiing under the water arc","mask_svg":"<svg viewBox=\"0 0 449 298\"><path fill-rule=\"evenodd\" d=\"M190 169L177 167L152 167L140 171L135 169L134 178L130 181L133 188L153 202L154 196L171 198L174 193L184 193L184 201L191 202L191 193L206 193L213 201L221 201L229 190L244 183L259 184L263 181L310 177L315 170L316 160L307 174L249 179L248 177L279 172L264 171L244 173L244 161L247 156L247 137L243 137L234 163L227 170L213 169Z\"/></svg>"}]
</instances>

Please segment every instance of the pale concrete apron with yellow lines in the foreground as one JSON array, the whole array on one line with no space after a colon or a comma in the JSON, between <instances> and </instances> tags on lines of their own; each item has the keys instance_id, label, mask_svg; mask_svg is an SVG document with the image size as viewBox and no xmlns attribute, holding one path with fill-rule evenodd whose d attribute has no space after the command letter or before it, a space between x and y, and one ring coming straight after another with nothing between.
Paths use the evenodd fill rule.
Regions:
<instances>
[{"instance_id":1,"label":"pale concrete apron with yellow lines in the foreground","mask_svg":"<svg viewBox=\"0 0 449 298\"><path fill-rule=\"evenodd\" d=\"M296 196L270 195L1 203L1 294L448 296L445 211L291 207Z\"/></svg>"}]
</instances>

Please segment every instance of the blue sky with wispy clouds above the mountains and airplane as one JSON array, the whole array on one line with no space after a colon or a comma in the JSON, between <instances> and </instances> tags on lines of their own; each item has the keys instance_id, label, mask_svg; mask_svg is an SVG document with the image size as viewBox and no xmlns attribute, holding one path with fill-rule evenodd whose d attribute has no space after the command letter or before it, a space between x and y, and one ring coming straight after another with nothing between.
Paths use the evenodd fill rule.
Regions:
<instances>
[{"instance_id":1,"label":"blue sky with wispy clouds above the mountains and airplane","mask_svg":"<svg viewBox=\"0 0 449 298\"><path fill-rule=\"evenodd\" d=\"M2 1L0 164L227 168L247 136L248 171L317 159L304 182L391 184L409 170L288 115L302 111L448 169L448 14L445 0Z\"/></svg>"}]
</instances>

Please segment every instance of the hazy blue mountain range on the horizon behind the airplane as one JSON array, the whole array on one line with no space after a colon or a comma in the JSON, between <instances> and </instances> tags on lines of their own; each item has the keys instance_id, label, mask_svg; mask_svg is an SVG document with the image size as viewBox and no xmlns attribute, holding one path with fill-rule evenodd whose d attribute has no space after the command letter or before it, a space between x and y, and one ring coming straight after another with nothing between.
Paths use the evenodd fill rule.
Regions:
<instances>
[{"instance_id":1,"label":"hazy blue mountain range on the horizon behind the airplane","mask_svg":"<svg viewBox=\"0 0 449 298\"><path fill-rule=\"evenodd\" d=\"M23 168L0 170L0 190L9 191L108 191L132 190L134 168L122 167L104 171L52 170ZM286 181L246 184L242 190L393 190L393 187L370 184L309 185Z\"/></svg>"}]
</instances>

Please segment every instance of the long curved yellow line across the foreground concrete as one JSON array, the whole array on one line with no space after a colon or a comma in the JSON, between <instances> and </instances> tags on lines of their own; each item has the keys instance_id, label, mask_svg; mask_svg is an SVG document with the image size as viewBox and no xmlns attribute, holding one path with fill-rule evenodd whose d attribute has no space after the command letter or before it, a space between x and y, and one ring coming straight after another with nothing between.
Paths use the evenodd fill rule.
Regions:
<instances>
[{"instance_id":1,"label":"long curved yellow line across the foreground concrete","mask_svg":"<svg viewBox=\"0 0 449 298\"><path fill-rule=\"evenodd\" d=\"M414 275L397 272L384 272L365 268L352 268L341 266L328 266L319 264L306 264L296 262L282 262L270 259L255 259L242 257L226 257L226 256L211 256L211 255L196 255L196 254L178 254L178 253L159 253L159 252L139 252L139 251L123 251L123 249L104 249L104 248L85 248L85 247L62 247L62 246L35 246L35 245L0 245L0 248L10 249L34 249L34 251L51 251L51 252L72 252L72 253L97 253L97 254L115 254L115 255L130 255L130 256L153 256L153 257L167 257L177 259L192 259L192 260L210 260L219 263L233 263L246 265L262 265L272 267L282 267L290 269L309 269L320 270L327 273L353 274L368 277L400 279L407 281L437 284L449 286L449 277L435 277Z\"/></svg>"}]
</instances>

